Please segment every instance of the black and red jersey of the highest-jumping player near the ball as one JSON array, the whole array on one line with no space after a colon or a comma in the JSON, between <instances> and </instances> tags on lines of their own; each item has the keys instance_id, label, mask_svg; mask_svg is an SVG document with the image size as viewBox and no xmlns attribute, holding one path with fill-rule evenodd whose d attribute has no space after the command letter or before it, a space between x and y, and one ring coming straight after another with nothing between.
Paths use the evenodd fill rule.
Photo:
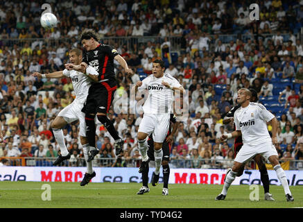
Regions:
<instances>
[{"instance_id":1,"label":"black and red jersey of the highest-jumping player near the ball","mask_svg":"<svg viewBox=\"0 0 303 222\"><path fill-rule=\"evenodd\" d=\"M98 44L96 49L86 51L83 50L83 62L91 65L98 71L98 80L114 80L114 57L119 55L116 49L107 44ZM98 83L92 83L92 85Z\"/></svg>"}]
</instances>

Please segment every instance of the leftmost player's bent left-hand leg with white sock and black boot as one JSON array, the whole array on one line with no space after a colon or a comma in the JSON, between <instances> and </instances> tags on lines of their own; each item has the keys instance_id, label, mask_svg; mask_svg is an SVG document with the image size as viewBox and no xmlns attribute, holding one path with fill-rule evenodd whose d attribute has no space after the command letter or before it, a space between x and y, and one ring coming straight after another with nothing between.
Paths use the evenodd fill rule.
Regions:
<instances>
[{"instance_id":1,"label":"leftmost player's bent left-hand leg with white sock and black boot","mask_svg":"<svg viewBox=\"0 0 303 222\"><path fill-rule=\"evenodd\" d=\"M62 112L60 112L59 114L62 114ZM67 125L67 121L64 119L64 117L60 117L59 115L57 117L55 117L54 121L51 123L53 135L55 136L55 140L59 144L60 153L61 153L60 155L58 155L57 160L55 160L55 162L53 162L54 166L60 164L64 160L69 160L69 158L71 157L71 155L69 154L69 151L67 150L67 146L65 145L64 135L63 135L63 130L62 130L62 128L64 128L64 126L66 126L66 125Z\"/></svg>"}]
</instances>

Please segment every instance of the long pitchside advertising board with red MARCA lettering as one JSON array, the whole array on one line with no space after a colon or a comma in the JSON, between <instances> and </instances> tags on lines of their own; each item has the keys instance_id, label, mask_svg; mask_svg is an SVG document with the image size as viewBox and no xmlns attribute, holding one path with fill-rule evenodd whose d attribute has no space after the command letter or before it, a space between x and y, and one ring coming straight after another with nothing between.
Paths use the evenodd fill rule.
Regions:
<instances>
[{"instance_id":1,"label":"long pitchside advertising board with red MARCA lettering","mask_svg":"<svg viewBox=\"0 0 303 222\"><path fill-rule=\"evenodd\" d=\"M150 168L151 180L155 169ZM85 175L85 167L1 167L0 181L39 181L39 182L80 182ZM137 182L141 183L138 168L94 167L96 177L92 182ZM171 169L170 184L207 184L223 185L225 169ZM303 171L285 171L291 186L303 185ZM268 171L270 185L281 185L275 171ZM150 182L150 181L149 181ZM163 182L162 172L159 182ZM241 177L236 177L232 185L261 185L257 170L245 170Z\"/></svg>"}]
</instances>

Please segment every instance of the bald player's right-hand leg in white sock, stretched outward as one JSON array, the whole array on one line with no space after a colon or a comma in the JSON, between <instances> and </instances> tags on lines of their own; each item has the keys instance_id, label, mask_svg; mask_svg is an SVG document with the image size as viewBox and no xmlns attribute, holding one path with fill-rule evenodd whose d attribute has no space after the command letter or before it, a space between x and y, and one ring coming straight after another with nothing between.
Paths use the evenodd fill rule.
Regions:
<instances>
[{"instance_id":1,"label":"bald player's right-hand leg in white sock, stretched outward","mask_svg":"<svg viewBox=\"0 0 303 222\"><path fill-rule=\"evenodd\" d=\"M275 146L274 146L274 148L275 148ZM291 195L291 190L289 189L289 186L288 186L286 174L285 174L284 170L282 169L281 165L279 164L278 155L271 155L270 157L268 157L268 160L270 161L270 164L272 164L273 169L275 169L275 171L277 173L277 177L279 178L279 180L283 186L286 200L292 202L294 199L293 199L293 196Z\"/></svg>"}]
</instances>

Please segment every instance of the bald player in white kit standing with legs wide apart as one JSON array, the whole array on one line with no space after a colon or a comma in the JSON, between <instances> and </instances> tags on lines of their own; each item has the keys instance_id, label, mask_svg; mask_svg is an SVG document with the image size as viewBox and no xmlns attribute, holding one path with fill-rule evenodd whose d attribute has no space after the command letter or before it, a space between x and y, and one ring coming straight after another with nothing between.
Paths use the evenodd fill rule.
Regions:
<instances>
[{"instance_id":1,"label":"bald player in white kit standing with legs wide apart","mask_svg":"<svg viewBox=\"0 0 303 222\"><path fill-rule=\"evenodd\" d=\"M223 142L225 139L242 135L243 146L236 155L234 166L225 177L223 191L216 197L216 200L225 199L227 189L236 178L236 174L241 167L255 155L261 154L272 164L273 169L275 169L277 177L284 188L286 200L292 202L293 196L288 186L286 174L279 164L278 153L274 146L274 144L277 144L278 121L275 116L260 103L250 103L251 97L252 93L249 89L239 89L237 102L241 107L234 113L236 130L220 137L221 142ZM266 122L269 121L272 126L272 138L270 138L266 125Z\"/></svg>"}]
</instances>

